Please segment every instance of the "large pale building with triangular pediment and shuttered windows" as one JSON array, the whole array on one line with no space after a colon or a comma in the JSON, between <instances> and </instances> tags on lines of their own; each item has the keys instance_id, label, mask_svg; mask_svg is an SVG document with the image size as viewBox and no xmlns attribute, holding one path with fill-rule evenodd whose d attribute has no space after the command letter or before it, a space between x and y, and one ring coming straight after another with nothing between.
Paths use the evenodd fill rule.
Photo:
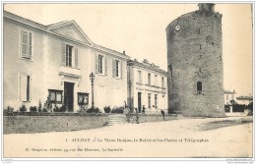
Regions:
<instances>
[{"instance_id":1,"label":"large pale building with triangular pediment and shuttered windows","mask_svg":"<svg viewBox=\"0 0 256 164\"><path fill-rule=\"evenodd\" d=\"M122 106L127 100L127 61L94 43L75 21L40 25L3 12L4 108L38 106L49 100L76 112L91 106Z\"/></svg>"}]
</instances>

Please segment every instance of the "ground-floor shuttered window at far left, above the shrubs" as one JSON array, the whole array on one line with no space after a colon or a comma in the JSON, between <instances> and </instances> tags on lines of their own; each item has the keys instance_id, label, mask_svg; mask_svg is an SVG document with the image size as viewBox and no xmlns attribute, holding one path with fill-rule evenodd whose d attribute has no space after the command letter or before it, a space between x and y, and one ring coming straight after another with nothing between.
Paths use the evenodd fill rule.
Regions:
<instances>
[{"instance_id":1,"label":"ground-floor shuttered window at far left, above the shrubs","mask_svg":"<svg viewBox=\"0 0 256 164\"><path fill-rule=\"evenodd\" d=\"M31 101L32 96L32 79L30 75L22 74L20 76L20 100L27 102Z\"/></svg>"}]
</instances>

